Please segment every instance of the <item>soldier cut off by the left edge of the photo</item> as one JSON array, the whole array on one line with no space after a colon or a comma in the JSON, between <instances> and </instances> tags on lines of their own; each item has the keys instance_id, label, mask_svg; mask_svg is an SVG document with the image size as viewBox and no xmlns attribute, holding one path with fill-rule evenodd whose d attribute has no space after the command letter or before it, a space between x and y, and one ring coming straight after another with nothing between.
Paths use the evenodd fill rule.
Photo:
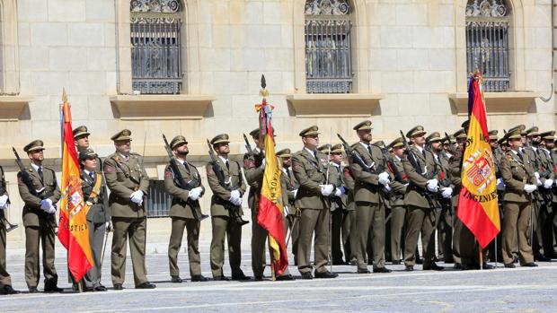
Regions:
<instances>
[{"instance_id":1,"label":"soldier cut off by the left edge of the photo","mask_svg":"<svg viewBox=\"0 0 557 313\"><path fill-rule=\"evenodd\" d=\"M5 186L4 169L0 166L0 294L16 294L19 291L13 290L12 278L5 267L5 210L7 210L10 200Z\"/></svg>"}]
</instances>

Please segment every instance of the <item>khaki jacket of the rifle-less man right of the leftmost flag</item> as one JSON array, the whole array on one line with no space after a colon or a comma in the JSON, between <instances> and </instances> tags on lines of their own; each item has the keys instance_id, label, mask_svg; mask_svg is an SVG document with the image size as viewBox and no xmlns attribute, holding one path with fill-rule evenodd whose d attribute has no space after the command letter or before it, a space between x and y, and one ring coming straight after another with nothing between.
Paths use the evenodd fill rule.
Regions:
<instances>
[{"instance_id":1,"label":"khaki jacket of the rifle-less man right of the leftmost flag","mask_svg":"<svg viewBox=\"0 0 557 313\"><path fill-rule=\"evenodd\" d=\"M104 161L104 178L111 189L109 204L113 217L139 218L146 216L145 201L139 206L131 202L129 197L134 191L141 190L148 194L149 178L145 168L141 166L141 155L129 153L129 161L119 153L112 153ZM132 181L135 178L139 184Z\"/></svg>"}]
</instances>

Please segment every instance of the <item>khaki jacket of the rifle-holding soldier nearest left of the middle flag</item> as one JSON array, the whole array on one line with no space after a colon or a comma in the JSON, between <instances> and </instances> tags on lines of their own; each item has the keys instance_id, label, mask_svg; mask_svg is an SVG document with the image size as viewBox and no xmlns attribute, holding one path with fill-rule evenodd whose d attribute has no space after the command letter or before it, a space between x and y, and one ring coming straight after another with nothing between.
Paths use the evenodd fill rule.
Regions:
<instances>
[{"instance_id":1,"label":"khaki jacket of the rifle-holding soldier nearest left of the middle flag","mask_svg":"<svg viewBox=\"0 0 557 313\"><path fill-rule=\"evenodd\" d=\"M246 186L243 182L240 164L237 161L228 159L228 164L230 166L230 169L228 169L226 168L225 162L223 162L218 156L217 163L223 171L225 182L229 182L228 187L238 189L240 196L243 196ZM231 204L228 201L232 190L228 190L228 188L220 185L211 162L208 162L206 169L208 184L213 191L213 196L211 196L211 216L230 216L228 210L225 208L225 205L230 205L230 207L234 206L234 204ZM243 214L242 207L240 207L238 213Z\"/></svg>"}]
</instances>

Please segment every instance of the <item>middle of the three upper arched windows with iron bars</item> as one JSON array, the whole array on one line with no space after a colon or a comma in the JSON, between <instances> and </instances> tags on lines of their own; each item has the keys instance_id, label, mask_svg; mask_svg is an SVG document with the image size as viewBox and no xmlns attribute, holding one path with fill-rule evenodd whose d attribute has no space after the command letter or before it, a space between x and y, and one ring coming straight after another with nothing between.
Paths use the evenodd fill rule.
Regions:
<instances>
[{"instance_id":1,"label":"middle of the three upper arched windows with iron bars","mask_svg":"<svg viewBox=\"0 0 557 313\"><path fill-rule=\"evenodd\" d=\"M348 0L305 1L305 78L308 93L352 91Z\"/></svg>"}]
</instances>

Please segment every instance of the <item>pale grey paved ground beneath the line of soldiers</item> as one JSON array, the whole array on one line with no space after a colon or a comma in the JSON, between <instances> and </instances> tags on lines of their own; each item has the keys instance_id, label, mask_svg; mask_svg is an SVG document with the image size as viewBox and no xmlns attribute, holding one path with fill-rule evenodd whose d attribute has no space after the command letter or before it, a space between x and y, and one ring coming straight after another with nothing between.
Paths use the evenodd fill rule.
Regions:
<instances>
[{"instance_id":1,"label":"pale grey paved ground beneath the line of soldiers","mask_svg":"<svg viewBox=\"0 0 557 313\"><path fill-rule=\"evenodd\" d=\"M203 242L203 274L210 276L208 242ZM243 270L251 274L249 243L243 243ZM334 266L340 276L333 280L295 282L170 283L165 245L148 246L149 279L155 290L133 289L131 265L127 266L124 291L0 296L1 312L262 312L262 311L365 311L365 312L556 312L557 262L540 267L468 272L407 273L403 265L387 265L391 274L354 274L353 266ZM156 251L156 252L155 252ZM182 249L183 251L183 249ZM58 285L69 287L66 259L57 247ZM180 256L182 277L189 279L187 257ZM103 266L102 282L111 287L110 266ZM129 261L129 260L128 260ZM22 274L23 255L12 250L8 270L13 287L26 291ZM441 264L442 265L442 264ZM446 265L449 266L449 265ZM226 274L229 268L226 265ZM290 271L298 275L294 266ZM267 272L267 274L270 274ZM42 289L42 283L40 283Z\"/></svg>"}]
</instances>

